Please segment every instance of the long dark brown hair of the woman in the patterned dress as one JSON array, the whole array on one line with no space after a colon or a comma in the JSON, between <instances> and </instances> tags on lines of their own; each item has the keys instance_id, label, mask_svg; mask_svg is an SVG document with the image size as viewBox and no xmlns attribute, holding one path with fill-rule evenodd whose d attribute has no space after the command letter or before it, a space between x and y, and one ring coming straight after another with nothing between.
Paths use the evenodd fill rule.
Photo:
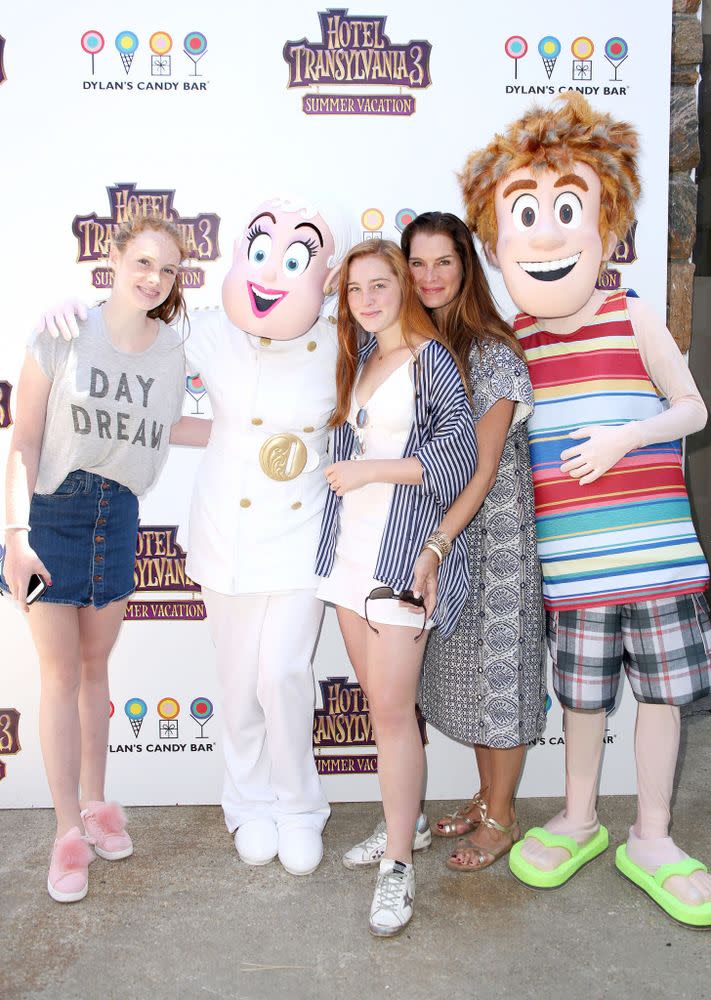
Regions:
<instances>
[{"instance_id":1,"label":"long dark brown hair of the woman in the patterned dress","mask_svg":"<svg viewBox=\"0 0 711 1000\"><path fill-rule=\"evenodd\" d=\"M503 342L523 358L518 340L508 323L499 316L484 268L465 223L451 212L425 212L418 215L405 227L400 239L408 260L412 240L417 233L448 236L462 265L459 294L447 307L438 312L432 311L431 315L445 344L464 369L469 370L472 346L479 345L486 339Z\"/></svg>"}]
</instances>

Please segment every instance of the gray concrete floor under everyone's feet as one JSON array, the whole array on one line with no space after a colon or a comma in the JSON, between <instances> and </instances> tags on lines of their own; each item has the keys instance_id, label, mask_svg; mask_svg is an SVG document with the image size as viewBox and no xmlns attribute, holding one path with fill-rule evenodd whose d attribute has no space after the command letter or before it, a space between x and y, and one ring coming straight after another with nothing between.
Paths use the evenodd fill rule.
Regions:
<instances>
[{"instance_id":1,"label":"gray concrete floor under everyone's feet","mask_svg":"<svg viewBox=\"0 0 711 1000\"><path fill-rule=\"evenodd\" d=\"M711 859L711 717L686 720L677 841ZM430 803L431 816L442 803ZM559 808L518 805L524 828ZM634 800L609 797L611 842ZM136 853L97 861L87 898L45 891L52 814L0 812L0 997L7 1000L516 1000L711 998L711 934L678 927L619 878L613 852L555 893L531 892L500 863L444 867L449 843L417 857L415 917L390 941L367 928L374 876L340 857L378 807L337 805L316 874L243 866L219 809L131 810Z\"/></svg>"}]
</instances>

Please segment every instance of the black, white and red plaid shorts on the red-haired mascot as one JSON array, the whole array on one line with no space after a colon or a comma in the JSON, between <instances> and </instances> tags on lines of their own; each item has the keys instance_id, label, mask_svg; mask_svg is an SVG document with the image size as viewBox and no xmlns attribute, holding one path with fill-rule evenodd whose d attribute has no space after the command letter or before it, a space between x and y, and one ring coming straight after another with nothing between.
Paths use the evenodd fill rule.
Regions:
<instances>
[{"instance_id":1,"label":"black, white and red plaid shorts on the red-haired mascot","mask_svg":"<svg viewBox=\"0 0 711 1000\"><path fill-rule=\"evenodd\" d=\"M711 690L711 621L703 594L549 611L553 686L562 705L615 704L624 666L637 701L686 705Z\"/></svg>"}]
</instances>

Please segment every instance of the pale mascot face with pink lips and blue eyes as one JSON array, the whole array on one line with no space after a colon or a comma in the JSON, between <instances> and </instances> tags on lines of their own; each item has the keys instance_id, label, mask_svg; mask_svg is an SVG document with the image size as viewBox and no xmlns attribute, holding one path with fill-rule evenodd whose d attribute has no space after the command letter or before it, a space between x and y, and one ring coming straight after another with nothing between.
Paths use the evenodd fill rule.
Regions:
<instances>
[{"instance_id":1,"label":"pale mascot face with pink lips and blue eyes","mask_svg":"<svg viewBox=\"0 0 711 1000\"><path fill-rule=\"evenodd\" d=\"M222 286L227 316L255 337L300 337L319 317L334 251L318 212L284 199L263 202L235 244Z\"/></svg>"}]
</instances>

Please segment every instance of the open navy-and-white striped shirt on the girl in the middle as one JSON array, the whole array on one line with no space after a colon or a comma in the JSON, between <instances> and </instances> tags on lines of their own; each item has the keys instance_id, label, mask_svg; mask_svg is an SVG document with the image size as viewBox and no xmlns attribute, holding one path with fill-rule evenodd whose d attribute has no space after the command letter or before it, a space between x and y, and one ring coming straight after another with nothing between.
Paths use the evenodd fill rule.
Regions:
<instances>
[{"instance_id":1,"label":"open navy-and-white striped shirt on the girl in the middle","mask_svg":"<svg viewBox=\"0 0 711 1000\"><path fill-rule=\"evenodd\" d=\"M360 349L358 371L376 345L371 337ZM403 458L414 455L420 460L422 484L395 486L373 574L397 591L412 588L415 560L426 538L474 475L477 461L474 416L449 351L431 340L419 352L413 369L415 421ZM334 433L333 461L351 458L353 446L353 429L343 423ZM333 568L340 505L341 498L329 490L316 556L319 576L328 576ZM468 590L469 560L462 532L439 570L433 620L445 639L454 631Z\"/></svg>"}]
</instances>

